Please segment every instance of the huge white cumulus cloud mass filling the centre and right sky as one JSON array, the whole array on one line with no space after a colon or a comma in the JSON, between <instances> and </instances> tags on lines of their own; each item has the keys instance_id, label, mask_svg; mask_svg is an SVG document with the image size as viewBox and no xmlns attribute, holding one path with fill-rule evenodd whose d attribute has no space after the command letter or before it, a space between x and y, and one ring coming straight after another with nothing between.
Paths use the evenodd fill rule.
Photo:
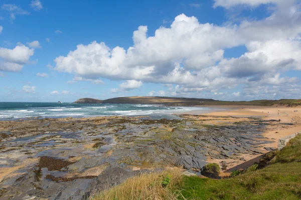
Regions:
<instances>
[{"instance_id":1,"label":"huge white cumulus cloud mass filling the centre and right sky","mask_svg":"<svg viewBox=\"0 0 301 200\"><path fill-rule=\"evenodd\" d=\"M55 58L55 70L83 79L100 77L125 80L119 89L138 88L142 82L176 84L171 95L234 89L254 81L266 85L297 83L284 77L301 70L301 11L295 0L215 0L213 6L249 7L273 4L268 17L243 19L222 25L200 23L180 14L170 27L159 27L147 36L147 26L133 31L133 45L110 48L104 42L77 45ZM285 4L285 5L284 5ZM247 51L225 57L225 50L244 45ZM212 92L211 92L212 93ZM242 95L242 92L240 92Z\"/></svg>"}]
</instances>

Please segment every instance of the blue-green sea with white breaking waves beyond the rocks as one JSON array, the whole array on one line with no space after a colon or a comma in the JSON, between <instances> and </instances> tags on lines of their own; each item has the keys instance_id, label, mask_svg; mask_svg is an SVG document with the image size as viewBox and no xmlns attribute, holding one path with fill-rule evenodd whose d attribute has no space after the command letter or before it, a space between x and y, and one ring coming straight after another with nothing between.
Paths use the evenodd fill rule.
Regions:
<instances>
[{"instance_id":1,"label":"blue-green sea with white breaking waves beyond the rocks","mask_svg":"<svg viewBox=\"0 0 301 200\"><path fill-rule=\"evenodd\" d=\"M0 120L30 117L89 117L111 115L149 115L155 118L177 118L173 113L207 107L163 106L151 104L80 104L56 102L0 102Z\"/></svg>"}]
</instances>

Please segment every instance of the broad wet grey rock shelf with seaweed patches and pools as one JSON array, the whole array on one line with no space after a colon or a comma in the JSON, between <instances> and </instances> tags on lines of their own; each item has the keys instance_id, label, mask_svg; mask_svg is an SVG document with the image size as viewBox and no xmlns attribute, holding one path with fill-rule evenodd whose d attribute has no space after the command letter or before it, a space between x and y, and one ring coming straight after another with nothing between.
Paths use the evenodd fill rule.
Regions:
<instances>
[{"instance_id":1,"label":"broad wet grey rock shelf with seaweed patches and pools","mask_svg":"<svg viewBox=\"0 0 301 200\"><path fill-rule=\"evenodd\" d=\"M208 158L260 155L271 142L262 136L270 121L182 117L0 121L0 198L81 199L141 171L183 166L200 174Z\"/></svg>"}]
</instances>

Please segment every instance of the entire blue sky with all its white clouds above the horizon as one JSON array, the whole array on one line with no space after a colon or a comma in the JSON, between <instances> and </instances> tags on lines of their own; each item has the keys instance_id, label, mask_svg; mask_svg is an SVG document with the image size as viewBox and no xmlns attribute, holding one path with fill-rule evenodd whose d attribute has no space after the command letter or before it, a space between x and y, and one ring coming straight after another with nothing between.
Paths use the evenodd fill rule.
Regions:
<instances>
[{"instance_id":1,"label":"entire blue sky with all its white clouds above the horizon","mask_svg":"<svg viewBox=\"0 0 301 200\"><path fill-rule=\"evenodd\" d=\"M0 101L301 98L301 0L2 0Z\"/></svg>"}]
</instances>

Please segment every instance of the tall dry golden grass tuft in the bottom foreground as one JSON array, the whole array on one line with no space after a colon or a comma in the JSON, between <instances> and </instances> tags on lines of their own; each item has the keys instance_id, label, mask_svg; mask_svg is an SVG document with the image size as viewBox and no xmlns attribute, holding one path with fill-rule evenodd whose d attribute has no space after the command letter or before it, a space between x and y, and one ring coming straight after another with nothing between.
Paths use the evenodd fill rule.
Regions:
<instances>
[{"instance_id":1,"label":"tall dry golden grass tuft in the bottom foreground","mask_svg":"<svg viewBox=\"0 0 301 200\"><path fill-rule=\"evenodd\" d=\"M164 187L164 177L171 175L170 183ZM142 173L128 178L125 182L92 196L91 200L176 200L181 195L176 188L182 184L181 169L173 168L162 172Z\"/></svg>"}]
</instances>

